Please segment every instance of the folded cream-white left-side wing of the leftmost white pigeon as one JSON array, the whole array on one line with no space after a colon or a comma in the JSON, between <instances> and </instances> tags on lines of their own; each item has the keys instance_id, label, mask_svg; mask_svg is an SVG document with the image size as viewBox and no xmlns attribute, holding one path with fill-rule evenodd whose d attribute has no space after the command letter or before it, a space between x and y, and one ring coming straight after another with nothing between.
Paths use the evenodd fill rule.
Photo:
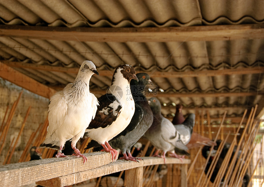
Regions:
<instances>
[{"instance_id":1,"label":"folded cream-white left-side wing of the leftmost white pigeon","mask_svg":"<svg viewBox=\"0 0 264 187\"><path fill-rule=\"evenodd\" d=\"M64 98L63 91L56 92L49 103L49 127L47 129L47 136L50 136L56 129L58 129L64 122L65 115L68 110L67 101Z\"/></svg>"}]
</instances>

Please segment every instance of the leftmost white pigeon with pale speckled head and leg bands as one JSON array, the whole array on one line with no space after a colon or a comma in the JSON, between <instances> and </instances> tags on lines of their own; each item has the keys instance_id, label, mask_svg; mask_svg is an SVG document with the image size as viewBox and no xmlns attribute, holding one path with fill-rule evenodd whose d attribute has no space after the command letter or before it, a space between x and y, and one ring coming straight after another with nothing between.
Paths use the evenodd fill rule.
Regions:
<instances>
[{"instance_id":1,"label":"leftmost white pigeon with pale speckled head and leg bands","mask_svg":"<svg viewBox=\"0 0 264 187\"><path fill-rule=\"evenodd\" d=\"M62 149L67 140L72 141L75 156L87 158L76 148L77 141L83 137L91 119L95 117L97 98L89 91L89 82L93 74L98 74L92 61L83 61L74 83L69 83L62 91L50 98L49 126L47 135L40 147L58 149L56 157L67 157Z\"/></svg>"}]
</instances>

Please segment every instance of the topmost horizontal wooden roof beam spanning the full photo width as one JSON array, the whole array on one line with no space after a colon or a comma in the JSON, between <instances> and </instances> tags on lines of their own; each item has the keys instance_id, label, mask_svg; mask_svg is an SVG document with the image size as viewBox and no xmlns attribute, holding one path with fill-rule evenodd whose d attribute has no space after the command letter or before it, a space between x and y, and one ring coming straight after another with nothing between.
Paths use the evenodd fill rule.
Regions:
<instances>
[{"instance_id":1,"label":"topmost horizontal wooden roof beam spanning the full photo width","mask_svg":"<svg viewBox=\"0 0 264 187\"><path fill-rule=\"evenodd\" d=\"M0 36L61 41L168 42L264 38L264 24L189 27L91 28L0 25Z\"/></svg>"}]
</instances>

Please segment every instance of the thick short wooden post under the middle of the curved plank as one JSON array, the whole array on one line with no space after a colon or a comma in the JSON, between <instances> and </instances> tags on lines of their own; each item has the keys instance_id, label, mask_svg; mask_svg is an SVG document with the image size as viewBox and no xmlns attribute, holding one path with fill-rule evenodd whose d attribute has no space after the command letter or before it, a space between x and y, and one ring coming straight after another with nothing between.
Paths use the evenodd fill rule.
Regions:
<instances>
[{"instance_id":1,"label":"thick short wooden post under the middle of the curved plank","mask_svg":"<svg viewBox=\"0 0 264 187\"><path fill-rule=\"evenodd\" d=\"M128 169L125 171L125 187L142 187L143 167Z\"/></svg>"}]
</instances>

